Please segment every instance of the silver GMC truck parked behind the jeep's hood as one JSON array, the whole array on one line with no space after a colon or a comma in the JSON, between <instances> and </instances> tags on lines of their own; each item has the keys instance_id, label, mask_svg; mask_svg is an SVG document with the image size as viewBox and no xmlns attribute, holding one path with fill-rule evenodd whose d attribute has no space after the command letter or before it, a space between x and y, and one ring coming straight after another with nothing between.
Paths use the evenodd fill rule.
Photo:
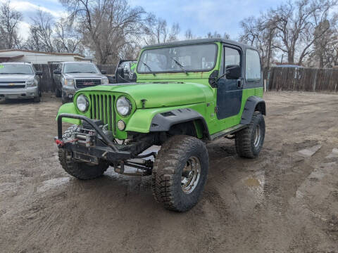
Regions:
<instances>
[{"instance_id":1,"label":"silver GMC truck parked behind the jeep's hood","mask_svg":"<svg viewBox=\"0 0 338 253\"><path fill-rule=\"evenodd\" d=\"M55 95L62 96L62 103L72 102L75 91L89 86L108 84L106 71L100 70L94 63L60 63L53 72Z\"/></svg>"}]
</instances>

